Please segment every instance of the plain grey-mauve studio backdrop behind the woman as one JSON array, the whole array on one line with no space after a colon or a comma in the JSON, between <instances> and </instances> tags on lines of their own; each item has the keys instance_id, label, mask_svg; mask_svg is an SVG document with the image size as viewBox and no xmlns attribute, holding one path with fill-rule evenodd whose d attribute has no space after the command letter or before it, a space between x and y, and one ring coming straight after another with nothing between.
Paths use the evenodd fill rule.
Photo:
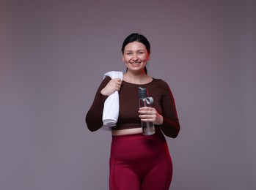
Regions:
<instances>
[{"instance_id":1,"label":"plain grey-mauve studio backdrop behind the woman","mask_svg":"<svg viewBox=\"0 0 256 190\"><path fill-rule=\"evenodd\" d=\"M84 116L103 73L125 72L134 31L177 104L170 189L256 189L255 12L255 1L1 1L0 189L109 189L111 134Z\"/></svg>"}]
</instances>

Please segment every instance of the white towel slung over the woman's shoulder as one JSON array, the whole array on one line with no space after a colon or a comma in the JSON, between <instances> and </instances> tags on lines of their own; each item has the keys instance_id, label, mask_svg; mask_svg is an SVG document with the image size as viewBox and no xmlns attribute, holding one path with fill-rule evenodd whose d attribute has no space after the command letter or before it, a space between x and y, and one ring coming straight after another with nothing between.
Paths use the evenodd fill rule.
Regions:
<instances>
[{"instance_id":1,"label":"white towel slung over the woman's shoulder","mask_svg":"<svg viewBox=\"0 0 256 190\"><path fill-rule=\"evenodd\" d=\"M111 77L111 79L120 78L122 80L123 73L117 72L117 71L106 72L103 78L107 76ZM111 94L104 102L103 116L102 116L103 126L101 127L101 129L108 130L108 131L111 130L111 126L115 126L117 123L118 115L119 115L119 94L118 94L118 91L114 91L114 93Z\"/></svg>"}]
</instances>

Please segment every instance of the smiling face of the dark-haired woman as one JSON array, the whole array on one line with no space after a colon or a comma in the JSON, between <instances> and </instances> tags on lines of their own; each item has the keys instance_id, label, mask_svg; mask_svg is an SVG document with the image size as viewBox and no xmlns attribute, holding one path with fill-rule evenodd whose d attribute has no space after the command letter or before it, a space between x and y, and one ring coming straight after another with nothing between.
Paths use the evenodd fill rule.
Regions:
<instances>
[{"instance_id":1,"label":"smiling face of the dark-haired woman","mask_svg":"<svg viewBox=\"0 0 256 190\"><path fill-rule=\"evenodd\" d=\"M129 71L142 72L147 65L150 55L147 48L141 42L131 42L125 46L122 54L122 61Z\"/></svg>"}]
</instances>

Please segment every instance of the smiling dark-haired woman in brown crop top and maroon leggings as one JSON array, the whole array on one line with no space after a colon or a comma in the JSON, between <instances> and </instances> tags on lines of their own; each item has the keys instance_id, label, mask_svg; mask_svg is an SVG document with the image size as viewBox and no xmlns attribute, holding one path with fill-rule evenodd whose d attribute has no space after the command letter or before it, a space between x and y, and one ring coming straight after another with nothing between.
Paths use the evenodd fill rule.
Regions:
<instances>
[{"instance_id":1,"label":"smiling dark-haired woman in brown crop top and maroon leggings","mask_svg":"<svg viewBox=\"0 0 256 190\"><path fill-rule=\"evenodd\" d=\"M172 180L172 160L164 134L177 137L180 124L167 83L147 75L149 59L147 39L141 34L128 36L122 44L122 61L127 67L123 80L106 77L86 116L90 131L100 129L104 102L119 91L119 117L111 128L109 188L112 190L164 190L169 189ZM153 97L152 107L139 108L139 87L147 88ZM155 134L142 134L141 121L153 122Z\"/></svg>"}]
</instances>

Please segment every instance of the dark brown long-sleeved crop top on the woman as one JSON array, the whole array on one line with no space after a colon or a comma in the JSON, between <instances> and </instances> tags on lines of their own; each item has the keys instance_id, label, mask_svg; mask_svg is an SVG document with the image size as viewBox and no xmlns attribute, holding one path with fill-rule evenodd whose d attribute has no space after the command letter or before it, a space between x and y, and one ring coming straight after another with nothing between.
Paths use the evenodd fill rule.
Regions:
<instances>
[{"instance_id":1,"label":"dark brown long-sleeved crop top on the woman","mask_svg":"<svg viewBox=\"0 0 256 190\"><path fill-rule=\"evenodd\" d=\"M87 127L90 131L94 132L103 125L102 113L103 104L108 96L100 94L102 88L106 86L111 80L110 77L106 77L100 84L98 91L95 94L95 99L86 115ZM178 121L178 115L175 108L175 101L172 96L172 92L169 89L164 80L155 79L150 83L144 85L137 85L122 81L122 86L119 91L120 98L120 110L117 121L117 126L114 126L112 130L120 129L133 129L141 127L141 121L139 119L139 87L147 88L149 96L153 97L152 106L156 108L157 112L163 116L164 122L159 126L168 137L177 137L180 131L180 124Z\"/></svg>"}]
</instances>

